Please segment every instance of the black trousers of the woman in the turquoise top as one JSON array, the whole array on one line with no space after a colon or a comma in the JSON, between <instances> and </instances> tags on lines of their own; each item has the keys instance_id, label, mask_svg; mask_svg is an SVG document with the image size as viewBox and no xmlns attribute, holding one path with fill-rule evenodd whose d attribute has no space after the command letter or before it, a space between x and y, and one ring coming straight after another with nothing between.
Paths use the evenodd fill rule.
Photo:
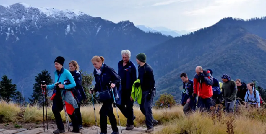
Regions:
<instances>
[{"instance_id":1,"label":"black trousers of the woman in the turquoise top","mask_svg":"<svg viewBox=\"0 0 266 134\"><path fill-rule=\"evenodd\" d=\"M52 106L52 111L53 111L53 115L54 118L56 120L56 125L57 125L57 129L59 130L64 130L64 124L61 118L61 114L60 112L64 109L63 107L63 102L62 99L59 98L54 98L53 99L53 106ZM72 115L68 115L72 121L73 124L73 131L79 131L79 126L78 126L78 122L77 122L77 117L76 117L76 113L73 112Z\"/></svg>"}]
</instances>

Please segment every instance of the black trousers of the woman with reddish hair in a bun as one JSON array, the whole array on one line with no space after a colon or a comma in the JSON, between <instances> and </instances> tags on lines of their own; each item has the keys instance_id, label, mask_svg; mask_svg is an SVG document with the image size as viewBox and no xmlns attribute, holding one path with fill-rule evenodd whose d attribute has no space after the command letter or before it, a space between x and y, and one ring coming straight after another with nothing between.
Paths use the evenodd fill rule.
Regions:
<instances>
[{"instance_id":1,"label":"black trousers of the woman with reddish hair in a bun","mask_svg":"<svg viewBox=\"0 0 266 134\"><path fill-rule=\"evenodd\" d=\"M101 133L107 133L107 116L109 117L110 124L112 126L113 132L118 132L116 117L113 113L113 99L109 99L103 102L100 109L100 128Z\"/></svg>"}]
</instances>

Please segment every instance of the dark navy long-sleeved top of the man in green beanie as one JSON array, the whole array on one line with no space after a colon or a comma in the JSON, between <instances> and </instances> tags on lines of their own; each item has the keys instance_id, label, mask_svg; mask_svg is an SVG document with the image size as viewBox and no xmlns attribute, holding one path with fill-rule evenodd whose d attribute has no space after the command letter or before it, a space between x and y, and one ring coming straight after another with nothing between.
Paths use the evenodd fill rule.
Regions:
<instances>
[{"instance_id":1,"label":"dark navy long-sleeved top of the man in green beanie","mask_svg":"<svg viewBox=\"0 0 266 134\"><path fill-rule=\"evenodd\" d=\"M140 79L142 92L154 90L155 80L153 75L153 68L149 64L145 63L143 66L138 66L138 72L138 79Z\"/></svg>"}]
</instances>

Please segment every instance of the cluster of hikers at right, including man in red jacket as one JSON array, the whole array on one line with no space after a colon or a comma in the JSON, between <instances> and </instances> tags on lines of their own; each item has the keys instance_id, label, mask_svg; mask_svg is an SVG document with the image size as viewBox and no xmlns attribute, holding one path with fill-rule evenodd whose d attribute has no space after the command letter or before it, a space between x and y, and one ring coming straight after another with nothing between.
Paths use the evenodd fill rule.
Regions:
<instances>
[{"instance_id":1,"label":"cluster of hikers at right, including man in red jacket","mask_svg":"<svg viewBox=\"0 0 266 134\"><path fill-rule=\"evenodd\" d=\"M222 82L215 79L212 69L196 67L193 80L181 73L183 81L181 103L185 114L197 109L210 111L210 107L222 104L226 112L234 112L240 105L259 108L262 104L256 81L246 83L240 79L231 80L227 74L221 76ZM235 107L236 106L236 107Z\"/></svg>"}]
</instances>

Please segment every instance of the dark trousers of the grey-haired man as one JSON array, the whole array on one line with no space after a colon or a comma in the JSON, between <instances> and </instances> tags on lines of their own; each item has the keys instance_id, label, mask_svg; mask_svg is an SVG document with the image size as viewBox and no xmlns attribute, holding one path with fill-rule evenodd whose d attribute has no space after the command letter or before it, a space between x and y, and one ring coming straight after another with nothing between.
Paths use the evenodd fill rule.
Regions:
<instances>
[{"instance_id":1,"label":"dark trousers of the grey-haired man","mask_svg":"<svg viewBox=\"0 0 266 134\"><path fill-rule=\"evenodd\" d=\"M116 105L119 110L122 112L122 114L127 118L127 125L134 125L134 121L133 121L133 116L134 116L134 112L133 112L133 104L134 101L130 100L130 96L128 98L123 98L122 99L122 104L121 105Z\"/></svg>"}]
</instances>

